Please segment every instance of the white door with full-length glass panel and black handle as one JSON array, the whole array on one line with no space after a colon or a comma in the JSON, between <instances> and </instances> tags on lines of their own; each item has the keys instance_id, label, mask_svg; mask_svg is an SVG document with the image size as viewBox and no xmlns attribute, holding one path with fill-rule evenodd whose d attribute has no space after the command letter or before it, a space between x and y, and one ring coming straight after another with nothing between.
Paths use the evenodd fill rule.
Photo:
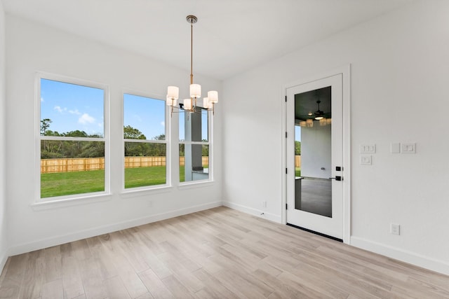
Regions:
<instances>
[{"instance_id":1,"label":"white door with full-length glass panel and black handle","mask_svg":"<svg viewBox=\"0 0 449 299\"><path fill-rule=\"evenodd\" d=\"M286 97L286 223L343 239L343 75L292 86Z\"/></svg>"}]
</instances>

